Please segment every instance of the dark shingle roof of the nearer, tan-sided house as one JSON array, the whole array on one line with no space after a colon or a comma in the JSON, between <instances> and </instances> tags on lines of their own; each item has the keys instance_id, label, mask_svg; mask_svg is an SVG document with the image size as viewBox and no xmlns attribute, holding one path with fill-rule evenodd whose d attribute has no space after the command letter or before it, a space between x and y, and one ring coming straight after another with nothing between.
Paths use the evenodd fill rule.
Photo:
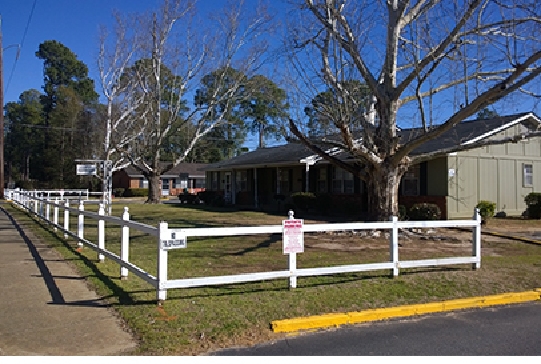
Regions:
<instances>
[{"instance_id":1,"label":"dark shingle roof of the nearer, tan-sided house","mask_svg":"<svg viewBox=\"0 0 541 364\"><path fill-rule=\"evenodd\" d=\"M528 118L528 116L530 116ZM413 151L413 155L434 152L446 148L458 146L465 141L485 136L491 131L497 131L499 127L522 119L524 124L531 123L538 125L540 120L533 113L521 113L509 116L499 116L491 119L477 119L464 121L455 125L451 130L438 138L427 141ZM405 143L420 135L422 129L402 129L399 132L401 143ZM487 135L488 136L488 135ZM287 165L299 163L300 159L313 155L314 153L300 143L289 143L270 148L259 148L252 152L242 154L229 160L207 165L205 170L230 169L232 167L255 167L261 165ZM342 153L341 159L348 155Z\"/></svg>"}]
</instances>

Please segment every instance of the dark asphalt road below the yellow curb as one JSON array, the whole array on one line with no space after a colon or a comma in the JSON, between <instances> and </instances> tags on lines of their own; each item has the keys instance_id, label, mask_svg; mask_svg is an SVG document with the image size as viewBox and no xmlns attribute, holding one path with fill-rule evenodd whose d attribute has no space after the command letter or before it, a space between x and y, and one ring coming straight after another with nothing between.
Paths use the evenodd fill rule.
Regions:
<instances>
[{"instance_id":1,"label":"dark asphalt road below the yellow curb","mask_svg":"<svg viewBox=\"0 0 541 364\"><path fill-rule=\"evenodd\" d=\"M348 326L211 355L539 356L541 303Z\"/></svg>"}]
</instances>

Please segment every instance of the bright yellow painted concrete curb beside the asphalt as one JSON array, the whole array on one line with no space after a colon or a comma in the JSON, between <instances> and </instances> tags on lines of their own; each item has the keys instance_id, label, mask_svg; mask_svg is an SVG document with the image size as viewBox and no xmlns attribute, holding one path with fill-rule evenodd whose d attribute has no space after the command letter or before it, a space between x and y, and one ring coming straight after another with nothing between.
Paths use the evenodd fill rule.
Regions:
<instances>
[{"instance_id":1,"label":"bright yellow painted concrete curb beside the asphalt","mask_svg":"<svg viewBox=\"0 0 541 364\"><path fill-rule=\"evenodd\" d=\"M504 293L493 296L463 298L392 308L377 308L360 312L330 313L319 316L276 320L271 322L271 328L273 332L297 332L303 330L332 328L370 321L381 321L397 317L418 316L436 312L482 308L536 300L541 300L541 288L536 288L533 291Z\"/></svg>"}]
</instances>

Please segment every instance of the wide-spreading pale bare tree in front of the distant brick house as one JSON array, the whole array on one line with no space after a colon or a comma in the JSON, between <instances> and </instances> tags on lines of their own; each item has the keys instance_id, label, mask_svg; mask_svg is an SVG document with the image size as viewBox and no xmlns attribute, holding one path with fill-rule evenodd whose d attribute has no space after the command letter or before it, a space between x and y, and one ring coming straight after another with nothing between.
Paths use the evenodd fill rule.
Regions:
<instances>
[{"instance_id":1,"label":"wide-spreading pale bare tree in front of the distant brick house","mask_svg":"<svg viewBox=\"0 0 541 364\"><path fill-rule=\"evenodd\" d=\"M263 6L253 5L231 1L209 15L210 22L203 22L197 18L201 14L195 1L165 0L159 11L139 17L138 60L124 72L128 84L137 81L125 94L135 98L126 103L135 112L121 128L131 139L123 139L125 144L116 151L147 178L147 202L159 202L162 173L184 161L203 136L228 122L245 75L261 66L271 18ZM232 78L232 69L240 76ZM196 92L209 74L214 87L201 103ZM182 152L164 167L164 142L179 133L184 133Z\"/></svg>"}]
</instances>

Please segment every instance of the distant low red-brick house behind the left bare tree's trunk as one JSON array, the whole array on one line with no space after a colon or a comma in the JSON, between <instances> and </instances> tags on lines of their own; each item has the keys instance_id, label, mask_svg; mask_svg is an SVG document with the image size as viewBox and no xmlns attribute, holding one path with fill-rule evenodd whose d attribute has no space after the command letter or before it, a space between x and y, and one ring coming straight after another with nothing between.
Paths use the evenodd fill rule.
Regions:
<instances>
[{"instance_id":1,"label":"distant low red-brick house behind the left bare tree's trunk","mask_svg":"<svg viewBox=\"0 0 541 364\"><path fill-rule=\"evenodd\" d=\"M164 162L164 166L167 163ZM160 176L161 195L177 196L184 193L197 193L205 190L204 163L179 163ZM148 188L148 180L143 174L128 166L113 173L113 190L115 188Z\"/></svg>"}]
</instances>

